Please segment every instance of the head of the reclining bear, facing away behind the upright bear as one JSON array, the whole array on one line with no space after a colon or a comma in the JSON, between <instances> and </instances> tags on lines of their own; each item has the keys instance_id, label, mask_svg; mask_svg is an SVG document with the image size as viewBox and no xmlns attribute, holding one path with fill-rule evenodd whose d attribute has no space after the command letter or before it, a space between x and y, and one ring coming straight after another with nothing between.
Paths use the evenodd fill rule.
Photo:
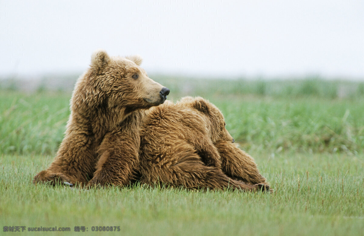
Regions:
<instances>
[{"instance_id":1,"label":"head of the reclining bear, facing away behind the upright bear","mask_svg":"<svg viewBox=\"0 0 364 236\"><path fill-rule=\"evenodd\" d=\"M214 144L218 141L231 141L234 143L235 140L225 128L224 116L214 104L202 97L183 97L180 102L188 104L206 118L210 137Z\"/></svg>"}]
</instances>

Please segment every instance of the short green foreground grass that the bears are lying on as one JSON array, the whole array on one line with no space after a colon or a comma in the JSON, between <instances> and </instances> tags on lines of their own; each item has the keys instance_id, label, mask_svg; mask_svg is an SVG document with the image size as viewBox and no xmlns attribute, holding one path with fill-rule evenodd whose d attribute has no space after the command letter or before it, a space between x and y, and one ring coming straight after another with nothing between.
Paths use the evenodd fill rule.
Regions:
<instances>
[{"instance_id":1,"label":"short green foreground grass that the bears are lying on","mask_svg":"<svg viewBox=\"0 0 364 236\"><path fill-rule=\"evenodd\" d=\"M123 234L357 235L364 230L363 156L255 155L273 194L132 186L33 185L50 156L1 157L1 225L120 226Z\"/></svg>"}]
</instances>

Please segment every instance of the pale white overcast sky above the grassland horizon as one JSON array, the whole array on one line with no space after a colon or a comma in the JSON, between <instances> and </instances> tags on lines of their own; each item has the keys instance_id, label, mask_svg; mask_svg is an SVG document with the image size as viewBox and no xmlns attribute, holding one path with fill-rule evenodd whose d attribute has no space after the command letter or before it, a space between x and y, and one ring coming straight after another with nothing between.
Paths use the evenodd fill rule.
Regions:
<instances>
[{"instance_id":1,"label":"pale white overcast sky above the grassland horizon","mask_svg":"<svg viewBox=\"0 0 364 236\"><path fill-rule=\"evenodd\" d=\"M103 48L149 74L364 80L363 0L1 0L0 32L0 75L81 73Z\"/></svg>"}]
</instances>

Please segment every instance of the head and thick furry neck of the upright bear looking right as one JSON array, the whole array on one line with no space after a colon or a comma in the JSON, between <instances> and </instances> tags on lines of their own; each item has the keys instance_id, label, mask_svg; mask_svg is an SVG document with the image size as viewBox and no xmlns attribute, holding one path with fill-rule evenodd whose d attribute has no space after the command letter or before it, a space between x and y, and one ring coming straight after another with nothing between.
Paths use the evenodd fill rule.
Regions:
<instances>
[{"instance_id":1,"label":"head and thick furry neck of the upright bear looking right","mask_svg":"<svg viewBox=\"0 0 364 236\"><path fill-rule=\"evenodd\" d=\"M92 54L72 96L72 107L81 111L130 113L164 103L169 89L150 79L140 67L140 56L110 57L105 51Z\"/></svg>"}]
</instances>

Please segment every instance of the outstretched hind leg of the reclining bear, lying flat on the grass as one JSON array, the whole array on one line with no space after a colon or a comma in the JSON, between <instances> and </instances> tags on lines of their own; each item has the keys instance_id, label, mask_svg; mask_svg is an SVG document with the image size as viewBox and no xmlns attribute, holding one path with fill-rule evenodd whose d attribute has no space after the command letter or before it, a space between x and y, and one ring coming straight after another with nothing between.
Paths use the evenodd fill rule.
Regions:
<instances>
[{"instance_id":1,"label":"outstretched hind leg of the reclining bear, lying flat on the grass","mask_svg":"<svg viewBox=\"0 0 364 236\"><path fill-rule=\"evenodd\" d=\"M165 152L165 153L168 153ZM248 185L226 176L221 169L203 164L193 150L159 155L149 159L141 153L142 183L165 183L173 186L184 186L190 189L241 189L243 191L269 191L269 185L259 183Z\"/></svg>"}]
</instances>

